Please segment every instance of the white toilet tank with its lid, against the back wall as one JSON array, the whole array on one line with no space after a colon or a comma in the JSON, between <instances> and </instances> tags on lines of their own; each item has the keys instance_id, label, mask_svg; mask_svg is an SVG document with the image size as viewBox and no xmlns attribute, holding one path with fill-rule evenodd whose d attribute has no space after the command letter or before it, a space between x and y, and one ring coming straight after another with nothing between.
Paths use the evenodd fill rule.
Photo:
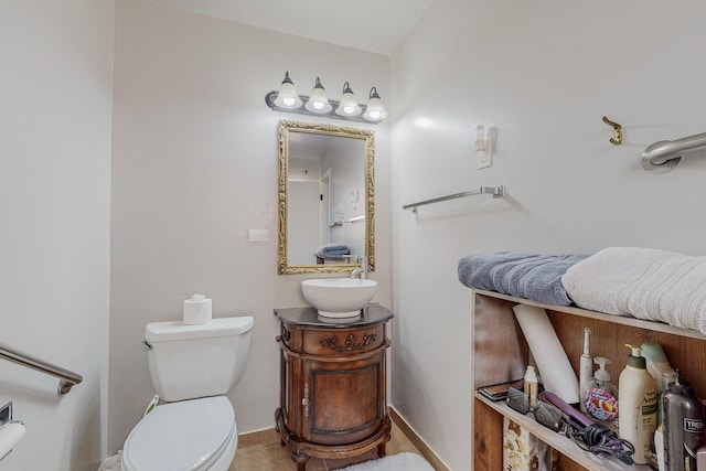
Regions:
<instances>
[{"instance_id":1,"label":"white toilet tank with its lid, against the back wall","mask_svg":"<svg viewBox=\"0 0 706 471\"><path fill-rule=\"evenodd\" d=\"M152 322L145 328L152 385L167 402L225 395L238 382L250 347L252 317L207 324Z\"/></svg>"}]
</instances>

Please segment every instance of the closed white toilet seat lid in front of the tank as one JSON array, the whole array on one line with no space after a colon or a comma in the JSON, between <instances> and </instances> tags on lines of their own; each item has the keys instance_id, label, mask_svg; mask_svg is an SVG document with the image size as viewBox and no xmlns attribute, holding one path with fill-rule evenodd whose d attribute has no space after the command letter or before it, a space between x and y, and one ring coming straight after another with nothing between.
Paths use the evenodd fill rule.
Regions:
<instances>
[{"instance_id":1,"label":"closed white toilet seat lid in front of the tank","mask_svg":"<svg viewBox=\"0 0 706 471\"><path fill-rule=\"evenodd\" d=\"M122 450L124 471L197 471L214 463L237 435L225 396L156 407L132 429Z\"/></svg>"}]
</instances>

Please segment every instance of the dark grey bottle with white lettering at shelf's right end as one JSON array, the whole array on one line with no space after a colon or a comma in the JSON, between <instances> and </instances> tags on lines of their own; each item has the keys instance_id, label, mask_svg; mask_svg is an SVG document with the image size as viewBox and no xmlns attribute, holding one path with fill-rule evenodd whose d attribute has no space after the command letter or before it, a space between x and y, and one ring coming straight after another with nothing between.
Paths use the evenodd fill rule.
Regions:
<instances>
[{"instance_id":1,"label":"dark grey bottle with white lettering at shelf's right end","mask_svg":"<svg viewBox=\"0 0 706 471\"><path fill-rule=\"evenodd\" d=\"M696 453L704 445L704 405L676 370L676 381L662 396L664 458L667 471L696 470Z\"/></svg>"}]
</instances>

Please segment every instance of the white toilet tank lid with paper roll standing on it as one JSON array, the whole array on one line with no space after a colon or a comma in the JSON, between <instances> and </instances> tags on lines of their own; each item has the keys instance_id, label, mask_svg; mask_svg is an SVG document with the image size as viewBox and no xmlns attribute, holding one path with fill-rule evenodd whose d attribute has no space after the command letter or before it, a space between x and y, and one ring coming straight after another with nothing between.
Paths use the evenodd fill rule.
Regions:
<instances>
[{"instance_id":1,"label":"white toilet tank lid with paper roll standing on it","mask_svg":"<svg viewBox=\"0 0 706 471\"><path fill-rule=\"evenodd\" d=\"M216 318L205 324L185 324L182 321L151 322L145 328L145 340L170 342L174 340L207 339L243 334L253 329L252 315Z\"/></svg>"}]
</instances>

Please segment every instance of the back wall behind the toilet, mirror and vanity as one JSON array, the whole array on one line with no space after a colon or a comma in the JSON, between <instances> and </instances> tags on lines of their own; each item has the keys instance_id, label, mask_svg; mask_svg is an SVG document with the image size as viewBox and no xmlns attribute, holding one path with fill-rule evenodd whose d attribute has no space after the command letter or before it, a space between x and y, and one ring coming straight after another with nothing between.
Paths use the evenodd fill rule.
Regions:
<instances>
[{"instance_id":1,"label":"back wall behind the toilet, mirror and vanity","mask_svg":"<svg viewBox=\"0 0 706 471\"><path fill-rule=\"evenodd\" d=\"M252 314L248 367L231 394L240 432L274 426L279 400L276 307L304 306L303 276L277 275L277 122L265 94L289 71L388 96L385 56L328 45L147 0L116 6L108 448L122 447L152 396L145 324L181 318L193 292L215 317ZM329 124L342 124L331 120ZM389 150L376 132L376 300L391 302ZM270 231L248 243L249 228Z\"/></svg>"}]
</instances>

